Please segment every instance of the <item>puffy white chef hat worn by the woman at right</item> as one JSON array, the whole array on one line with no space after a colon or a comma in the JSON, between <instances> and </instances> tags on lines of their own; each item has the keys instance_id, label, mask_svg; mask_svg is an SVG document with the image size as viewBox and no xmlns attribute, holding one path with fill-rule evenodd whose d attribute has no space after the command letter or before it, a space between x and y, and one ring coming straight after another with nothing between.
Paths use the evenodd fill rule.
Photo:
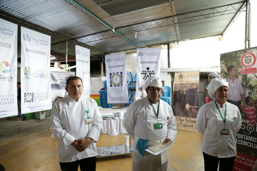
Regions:
<instances>
[{"instance_id":1,"label":"puffy white chef hat worn by the woman at right","mask_svg":"<svg viewBox=\"0 0 257 171\"><path fill-rule=\"evenodd\" d=\"M214 78L212 81L210 81L208 85L208 94L212 99L215 99L214 93L221 86L227 86L228 88L228 82L225 78Z\"/></svg>"}]
</instances>

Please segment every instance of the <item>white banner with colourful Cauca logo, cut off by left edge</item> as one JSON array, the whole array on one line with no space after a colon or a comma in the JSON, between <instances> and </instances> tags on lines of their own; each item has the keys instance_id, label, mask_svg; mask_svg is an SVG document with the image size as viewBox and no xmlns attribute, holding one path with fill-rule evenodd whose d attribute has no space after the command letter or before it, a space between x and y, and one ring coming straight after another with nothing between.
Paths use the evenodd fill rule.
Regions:
<instances>
[{"instance_id":1,"label":"white banner with colourful Cauca logo, cut off by left edge","mask_svg":"<svg viewBox=\"0 0 257 171\"><path fill-rule=\"evenodd\" d=\"M17 24L0 18L0 118L18 114L17 34Z\"/></svg>"}]
</instances>

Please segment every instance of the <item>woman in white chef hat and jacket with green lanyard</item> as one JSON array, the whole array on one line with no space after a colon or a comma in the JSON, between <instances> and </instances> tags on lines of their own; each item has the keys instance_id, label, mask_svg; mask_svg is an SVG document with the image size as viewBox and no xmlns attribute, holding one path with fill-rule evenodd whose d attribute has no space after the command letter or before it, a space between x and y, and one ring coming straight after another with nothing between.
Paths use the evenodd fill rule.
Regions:
<instances>
[{"instance_id":1,"label":"woman in white chef hat and jacket with green lanyard","mask_svg":"<svg viewBox=\"0 0 257 171\"><path fill-rule=\"evenodd\" d=\"M236 157L236 133L241 128L239 109L226 102L228 82L214 78L208 85L209 96L215 101L202 106L196 117L196 127L204 137L202 151L204 170L231 171Z\"/></svg>"}]
</instances>

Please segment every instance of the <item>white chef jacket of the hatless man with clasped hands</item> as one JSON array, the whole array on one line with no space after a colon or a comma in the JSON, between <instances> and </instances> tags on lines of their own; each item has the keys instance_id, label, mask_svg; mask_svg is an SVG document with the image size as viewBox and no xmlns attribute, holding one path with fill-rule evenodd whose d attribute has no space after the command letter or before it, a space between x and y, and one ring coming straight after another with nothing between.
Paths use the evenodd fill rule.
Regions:
<instances>
[{"instance_id":1,"label":"white chef jacket of the hatless man with clasped hands","mask_svg":"<svg viewBox=\"0 0 257 171\"><path fill-rule=\"evenodd\" d=\"M92 124L85 124L87 117L93 118ZM51 128L58 141L59 161L66 163L97 156L95 143L102 125L103 119L95 100L81 95L77 102L70 96L56 101L51 110ZM82 152L70 145L75 139L87 137L93 140Z\"/></svg>"}]
</instances>

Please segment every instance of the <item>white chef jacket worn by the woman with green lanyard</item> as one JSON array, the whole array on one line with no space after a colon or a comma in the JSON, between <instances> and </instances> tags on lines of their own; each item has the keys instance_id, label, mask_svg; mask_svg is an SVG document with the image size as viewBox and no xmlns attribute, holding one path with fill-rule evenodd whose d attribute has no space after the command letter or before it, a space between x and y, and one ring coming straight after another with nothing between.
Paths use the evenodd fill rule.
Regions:
<instances>
[{"instance_id":1,"label":"white chef jacket worn by the woman with green lanyard","mask_svg":"<svg viewBox=\"0 0 257 171\"><path fill-rule=\"evenodd\" d=\"M227 104L225 129L229 130L229 135L220 135L220 130L224 129L224 122L214 101L202 106L196 117L197 130L204 137L202 151L218 158L236 156L236 133L242 124L238 108L231 103L225 103ZM225 103L223 108L217 103L223 118Z\"/></svg>"}]
</instances>

